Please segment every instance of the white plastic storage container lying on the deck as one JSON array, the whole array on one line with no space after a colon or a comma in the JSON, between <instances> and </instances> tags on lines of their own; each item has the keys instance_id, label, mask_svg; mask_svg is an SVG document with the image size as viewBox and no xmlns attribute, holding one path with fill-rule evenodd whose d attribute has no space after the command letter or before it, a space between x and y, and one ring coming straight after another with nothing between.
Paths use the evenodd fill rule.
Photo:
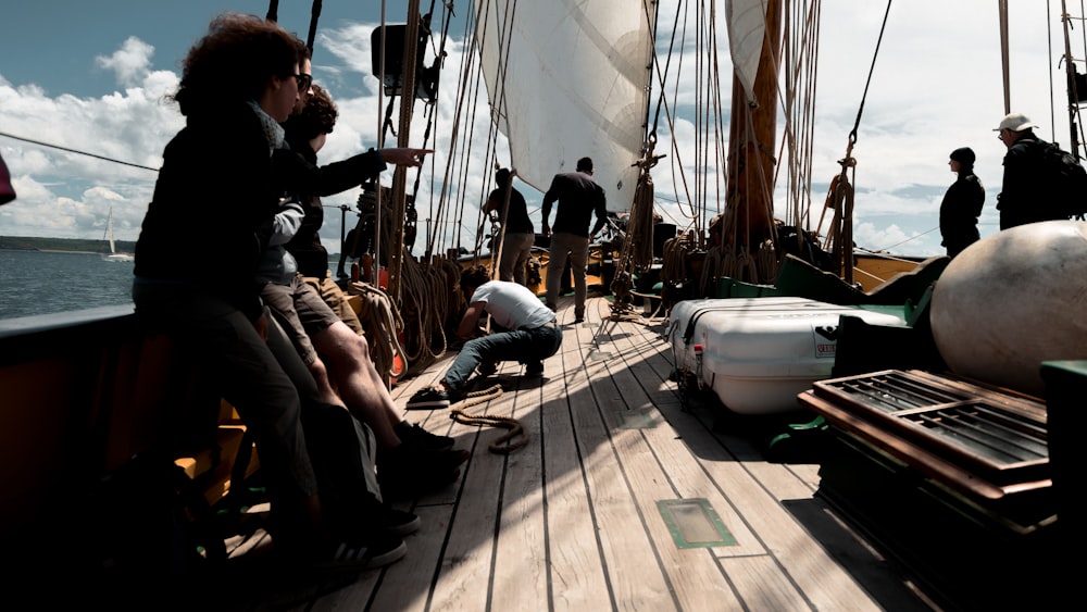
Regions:
<instances>
[{"instance_id":1,"label":"white plastic storage container lying on the deck","mask_svg":"<svg viewBox=\"0 0 1087 612\"><path fill-rule=\"evenodd\" d=\"M798 410L797 394L830 377L839 316L905 325L897 309L866 310L805 298L685 300L669 315L676 367L695 374L740 414ZM701 348L697 354L696 346Z\"/></svg>"}]
</instances>

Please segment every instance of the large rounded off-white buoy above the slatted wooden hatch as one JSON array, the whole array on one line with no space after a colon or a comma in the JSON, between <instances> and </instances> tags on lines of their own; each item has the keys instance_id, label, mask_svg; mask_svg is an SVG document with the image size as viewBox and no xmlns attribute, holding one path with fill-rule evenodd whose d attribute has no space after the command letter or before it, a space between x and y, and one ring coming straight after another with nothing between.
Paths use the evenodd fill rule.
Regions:
<instances>
[{"instance_id":1,"label":"large rounded off-white buoy above the slatted wooden hatch","mask_svg":"<svg viewBox=\"0 0 1087 612\"><path fill-rule=\"evenodd\" d=\"M1087 223L1032 223L971 245L936 282L930 316L952 372L1044 398L1042 361L1087 359Z\"/></svg>"}]
</instances>

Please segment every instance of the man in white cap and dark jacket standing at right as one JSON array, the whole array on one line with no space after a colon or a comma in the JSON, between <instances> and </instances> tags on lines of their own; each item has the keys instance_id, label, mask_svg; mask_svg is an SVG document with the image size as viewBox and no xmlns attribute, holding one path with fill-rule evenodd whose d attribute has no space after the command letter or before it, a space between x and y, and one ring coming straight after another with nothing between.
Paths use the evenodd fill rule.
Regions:
<instances>
[{"instance_id":1,"label":"man in white cap and dark jacket standing at right","mask_svg":"<svg viewBox=\"0 0 1087 612\"><path fill-rule=\"evenodd\" d=\"M1057 185L1048 177L1044 153L1048 142L1034 135L1037 127L1023 113L1010 113L994 129L997 138L1008 147L1004 153L1004 178L997 196L1000 211L1000 229L1016 225L1067 218L1053 203L1060 195Z\"/></svg>"}]
</instances>

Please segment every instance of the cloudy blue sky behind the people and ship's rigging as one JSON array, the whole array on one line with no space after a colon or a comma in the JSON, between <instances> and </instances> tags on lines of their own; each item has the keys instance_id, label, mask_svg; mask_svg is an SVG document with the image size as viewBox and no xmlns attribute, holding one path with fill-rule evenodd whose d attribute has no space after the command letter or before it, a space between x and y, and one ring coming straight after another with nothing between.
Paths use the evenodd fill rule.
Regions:
<instances>
[{"instance_id":1,"label":"cloudy blue sky behind the people and ship's rigging","mask_svg":"<svg viewBox=\"0 0 1087 612\"><path fill-rule=\"evenodd\" d=\"M263 16L267 2L0 2L4 26L0 37L0 155L18 193L17 200L0 207L0 235L99 239L112 209L115 237L135 240L154 187L153 168L161 164L165 143L184 126L176 105L163 100L176 88L180 60L215 14L237 11ZM665 2L663 7L673 4ZM1021 0L1010 4L1011 110L1038 123L1041 128L1036 132L1042 138L1069 148L1061 2ZM377 79L371 74L370 35L382 21L383 5L388 23L404 22L407 0L322 3L313 74L340 110L336 129L321 152L323 162L343 159L377 142L383 108ZM421 5L426 11L430 2ZM437 5L440 9L441 3ZM1077 13L1079 5L1075 3L1070 11ZM438 176L445 167L443 152L450 148L448 127L453 122L452 100L463 54L464 14L471 3L461 0L453 7L458 18L450 28L441 102L433 115L416 107L412 127L411 143L420 146L426 121L434 120L437 128L427 146L437 150ZM662 14L666 14L669 9L663 7ZM944 192L954 180L948 154L955 148L971 147L976 152L975 170L986 187L979 229L983 236L997 232L995 205L1004 147L994 128L1005 112L998 2L891 3L877 53L886 11L887 4L876 0L822 1L811 190L821 208L860 112L851 151L857 160L855 242L899 254L939 254L938 211ZM302 38L310 16L309 0L279 2L279 23ZM1073 55L1084 72L1082 60L1087 49L1080 22L1074 24ZM722 58L727 60L727 53ZM691 84L680 80L673 86L689 93ZM729 91L721 93L727 97ZM483 115L479 121L486 123ZM690 125L688 117L675 129L680 151L694 147ZM658 151L667 150L665 147L662 138ZM483 147L479 149L473 154L482 155ZM501 153L498 159L509 161ZM670 204L675 178L669 165L662 163L653 171L658 210L683 229L686 222ZM484 167L482 161L475 167ZM479 192L483 174L487 173L470 178ZM387 180L390 173L386 175ZM423 180L421 230L429 215L426 202L430 185ZM518 187L539 227L540 193ZM465 192L470 192L467 187ZM341 211L336 209L349 209L346 218L353 225L357 197L355 190L324 199L328 209L321 234L332 252L339 251L341 232ZM817 217L820 213L812 214ZM193 202L192 227L183 230L193 233L195 243L200 220L200 202ZM471 248L475 226L474 222L465 223L462 236Z\"/></svg>"}]
</instances>

